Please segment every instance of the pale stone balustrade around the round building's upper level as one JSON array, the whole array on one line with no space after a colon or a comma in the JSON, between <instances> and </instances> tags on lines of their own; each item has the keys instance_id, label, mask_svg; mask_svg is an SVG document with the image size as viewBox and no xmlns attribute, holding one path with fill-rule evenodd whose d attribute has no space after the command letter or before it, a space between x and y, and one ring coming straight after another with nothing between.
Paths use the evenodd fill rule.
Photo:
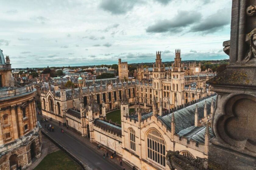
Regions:
<instances>
[{"instance_id":1,"label":"pale stone balustrade around the round building's upper level","mask_svg":"<svg viewBox=\"0 0 256 170\"><path fill-rule=\"evenodd\" d=\"M21 95L24 93L29 93L32 91L35 91L32 84L27 85L25 87L17 87L17 88L9 87L8 89L4 88L0 90L0 100L3 100L5 97L14 97L14 96Z\"/></svg>"}]
</instances>

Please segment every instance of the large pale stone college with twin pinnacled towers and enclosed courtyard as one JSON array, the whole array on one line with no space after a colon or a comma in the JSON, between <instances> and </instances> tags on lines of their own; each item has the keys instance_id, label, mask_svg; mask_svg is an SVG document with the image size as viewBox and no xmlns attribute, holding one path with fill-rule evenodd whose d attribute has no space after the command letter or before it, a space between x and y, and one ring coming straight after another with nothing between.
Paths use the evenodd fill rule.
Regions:
<instances>
[{"instance_id":1,"label":"large pale stone college with twin pinnacled towers and enclosed courtyard","mask_svg":"<svg viewBox=\"0 0 256 170\"><path fill-rule=\"evenodd\" d=\"M157 52L150 80L79 77L78 88L69 89L63 82L60 87L39 83L42 114L116 151L138 169L168 169L168 150L181 150L190 158L208 158L208 141L213 137L208 126L216 96L204 85L185 87L180 50L176 50L175 61L166 71ZM131 114L130 107L135 109ZM121 110L121 124L105 119L113 109ZM155 145L148 145L153 139Z\"/></svg>"}]
</instances>

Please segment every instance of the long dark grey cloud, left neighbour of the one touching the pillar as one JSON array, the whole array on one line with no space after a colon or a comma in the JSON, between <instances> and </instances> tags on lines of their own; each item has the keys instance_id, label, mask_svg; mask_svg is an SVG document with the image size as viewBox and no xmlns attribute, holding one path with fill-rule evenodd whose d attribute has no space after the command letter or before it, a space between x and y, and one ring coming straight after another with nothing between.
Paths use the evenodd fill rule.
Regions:
<instances>
[{"instance_id":1,"label":"long dark grey cloud, left neighbour of the one touching the pillar","mask_svg":"<svg viewBox=\"0 0 256 170\"><path fill-rule=\"evenodd\" d=\"M201 13L196 11L178 11L172 19L164 19L148 26L146 32L181 32L183 28L198 22L202 18Z\"/></svg>"}]
</instances>

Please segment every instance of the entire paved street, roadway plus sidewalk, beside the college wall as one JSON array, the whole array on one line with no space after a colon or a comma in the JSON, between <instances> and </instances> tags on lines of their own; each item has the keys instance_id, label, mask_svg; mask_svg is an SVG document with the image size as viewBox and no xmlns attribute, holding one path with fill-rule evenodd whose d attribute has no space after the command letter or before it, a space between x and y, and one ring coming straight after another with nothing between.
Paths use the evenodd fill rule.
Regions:
<instances>
[{"instance_id":1,"label":"entire paved street, roadway plus sidewalk, beside the college wall","mask_svg":"<svg viewBox=\"0 0 256 170\"><path fill-rule=\"evenodd\" d=\"M44 118L41 115L37 115L37 120ZM48 124L54 126L54 132L49 132L45 128ZM120 166L120 158L116 156L111 159L111 151L106 148L100 147L97 149L97 143L91 143L89 138L83 138L76 130L69 127L59 126L59 123L55 121L48 120L47 122L41 122L42 131L48 134L51 138L57 141L59 144L64 146L71 154L76 156L76 158L82 163L88 165L93 170L131 170L132 168L123 163L123 166ZM61 133L61 128L64 129L64 133ZM109 158L103 158L103 154L108 151Z\"/></svg>"}]
</instances>

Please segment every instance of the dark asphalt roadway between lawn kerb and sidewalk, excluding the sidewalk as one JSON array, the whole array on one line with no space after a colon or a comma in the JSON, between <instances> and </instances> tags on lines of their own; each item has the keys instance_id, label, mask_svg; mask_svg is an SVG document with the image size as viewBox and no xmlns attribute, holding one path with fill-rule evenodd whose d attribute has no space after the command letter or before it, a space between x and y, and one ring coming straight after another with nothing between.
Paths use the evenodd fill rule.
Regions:
<instances>
[{"instance_id":1,"label":"dark asphalt roadway between lawn kerb and sidewalk, excluding the sidewalk","mask_svg":"<svg viewBox=\"0 0 256 170\"><path fill-rule=\"evenodd\" d=\"M41 116L37 116L37 120L40 120ZM47 124L54 124L52 121L48 121ZM103 155L100 155L98 152L91 148L89 145L81 142L76 139L75 136L65 132L61 133L59 125L54 124L54 132L48 132L44 127L45 123L41 123L42 128L45 133L47 133L51 138L57 141L62 146L65 146L66 149L71 151L71 153L77 156L80 161L87 164L90 168L94 170L121 170L121 166L116 165L115 163L108 161L108 159L103 159Z\"/></svg>"}]
</instances>

